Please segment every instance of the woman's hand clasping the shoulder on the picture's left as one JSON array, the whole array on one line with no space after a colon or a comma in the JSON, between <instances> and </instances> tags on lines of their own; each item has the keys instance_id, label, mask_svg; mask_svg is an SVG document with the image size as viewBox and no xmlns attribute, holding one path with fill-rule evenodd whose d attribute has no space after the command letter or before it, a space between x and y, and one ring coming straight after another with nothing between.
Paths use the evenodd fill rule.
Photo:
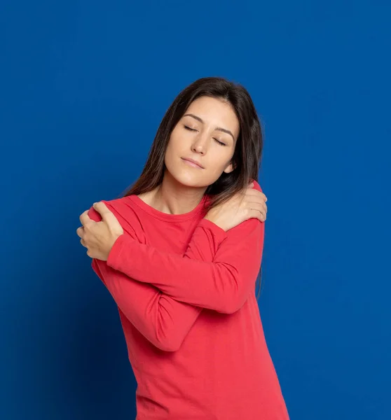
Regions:
<instances>
[{"instance_id":1,"label":"woman's hand clasping the shoulder on the picture's left","mask_svg":"<svg viewBox=\"0 0 391 420\"><path fill-rule=\"evenodd\" d=\"M93 207L102 216L102 221L93 221L85 210L80 216L83 226L76 233L81 237L81 244L88 249L89 257L107 261L114 242L123 235L123 228L104 202L95 203Z\"/></svg>"}]
</instances>

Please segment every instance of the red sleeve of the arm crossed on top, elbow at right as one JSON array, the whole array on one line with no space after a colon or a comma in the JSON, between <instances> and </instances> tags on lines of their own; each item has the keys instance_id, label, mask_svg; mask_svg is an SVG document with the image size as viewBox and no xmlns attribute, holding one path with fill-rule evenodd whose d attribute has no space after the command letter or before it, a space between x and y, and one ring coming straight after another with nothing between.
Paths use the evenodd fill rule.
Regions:
<instances>
[{"instance_id":1,"label":"red sleeve of the arm crossed on top, elbow at right","mask_svg":"<svg viewBox=\"0 0 391 420\"><path fill-rule=\"evenodd\" d=\"M137 281L151 283L181 302L232 314L254 290L261 267L265 223L248 219L224 232L203 219L184 255L160 251L121 235L107 265ZM194 249L211 252L212 261L192 258Z\"/></svg>"}]
</instances>

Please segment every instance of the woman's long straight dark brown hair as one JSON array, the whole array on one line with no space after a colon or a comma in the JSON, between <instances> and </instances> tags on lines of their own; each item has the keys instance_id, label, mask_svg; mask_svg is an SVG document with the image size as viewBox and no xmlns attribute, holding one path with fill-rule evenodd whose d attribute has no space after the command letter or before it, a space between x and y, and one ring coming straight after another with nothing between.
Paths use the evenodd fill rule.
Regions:
<instances>
[{"instance_id":1,"label":"woman's long straight dark brown hair","mask_svg":"<svg viewBox=\"0 0 391 420\"><path fill-rule=\"evenodd\" d=\"M240 124L240 134L232 158L235 169L229 174L223 172L217 181L208 186L205 191L205 194L210 197L208 209L240 193L247 187L250 180L258 181L263 133L249 92L242 85L225 78L205 77L196 80L179 92L167 109L156 132L142 174L132 186L125 190L122 197L148 193L162 183L165 173L165 151L172 130L184 116L188 106L195 99L203 96L214 97L231 104ZM259 272L260 285L261 270Z\"/></svg>"}]
</instances>

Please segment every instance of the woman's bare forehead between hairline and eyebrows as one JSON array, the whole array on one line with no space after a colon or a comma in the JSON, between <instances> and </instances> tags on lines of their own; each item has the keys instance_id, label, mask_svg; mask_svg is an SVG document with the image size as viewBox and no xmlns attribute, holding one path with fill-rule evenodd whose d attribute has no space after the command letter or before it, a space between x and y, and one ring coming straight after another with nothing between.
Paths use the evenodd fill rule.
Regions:
<instances>
[{"instance_id":1,"label":"woman's bare forehead between hairline and eyebrows","mask_svg":"<svg viewBox=\"0 0 391 420\"><path fill-rule=\"evenodd\" d=\"M230 130L235 138L238 137L240 125L238 117L231 104L212 97L199 97L191 102L186 113L193 113L200 117L205 124ZM191 117L186 117L191 118Z\"/></svg>"}]
</instances>

